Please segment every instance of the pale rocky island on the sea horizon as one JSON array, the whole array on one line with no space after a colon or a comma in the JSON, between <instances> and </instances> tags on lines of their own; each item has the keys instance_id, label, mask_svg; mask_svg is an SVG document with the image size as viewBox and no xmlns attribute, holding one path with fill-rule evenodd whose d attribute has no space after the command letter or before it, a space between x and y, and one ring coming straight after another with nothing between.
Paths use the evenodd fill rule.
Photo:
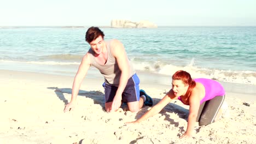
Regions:
<instances>
[{"instance_id":1,"label":"pale rocky island on the sea horizon","mask_svg":"<svg viewBox=\"0 0 256 144\"><path fill-rule=\"evenodd\" d=\"M112 20L112 28L157 28L158 26L150 21L132 22L129 20Z\"/></svg>"}]
</instances>

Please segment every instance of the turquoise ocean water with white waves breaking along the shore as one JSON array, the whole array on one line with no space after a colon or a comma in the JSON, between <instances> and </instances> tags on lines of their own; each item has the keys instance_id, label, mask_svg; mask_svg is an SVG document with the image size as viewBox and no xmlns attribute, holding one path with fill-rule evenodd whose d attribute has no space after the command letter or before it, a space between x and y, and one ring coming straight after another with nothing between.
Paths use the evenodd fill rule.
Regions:
<instances>
[{"instance_id":1,"label":"turquoise ocean water with white waves breaking along the shore","mask_svg":"<svg viewBox=\"0 0 256 144\"><path fill-rule=\"evenodd\" d=\"M74 76L88 27L0 28L0 69ZM256 27L101 28L119 39L137 71L256 85ZM98 76L91 68L89 76Z\"/></svg>"}]
</instances>

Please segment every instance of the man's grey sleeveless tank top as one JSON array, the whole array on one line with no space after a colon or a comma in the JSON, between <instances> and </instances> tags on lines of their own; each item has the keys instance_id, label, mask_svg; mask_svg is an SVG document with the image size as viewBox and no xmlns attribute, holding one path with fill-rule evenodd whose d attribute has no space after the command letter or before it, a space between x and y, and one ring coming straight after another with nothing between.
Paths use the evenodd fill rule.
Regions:
<instances>
[{"instance_id":1,"label":"man's grey sleeveless tank top","mask_svg":"<svg viewBox=\"0 0 256 144\"><path fill-rule=\"evenodd\" d=\"M94 51L89 49L88 53L90 55L91 65L100 70L100 73L104 76L105 82L108 84L113 84L114 86L119 85L119 80L121 76L121 70L118 67L115 57L112 55L112 47L110 46L110 41L105 41L107 46L108 58L106 64L102 65L98 63L94 56ZM132 64L129 61L130 65L130 77L136 73L135 69L132 67Z\"/></svg>"}]
</instances>

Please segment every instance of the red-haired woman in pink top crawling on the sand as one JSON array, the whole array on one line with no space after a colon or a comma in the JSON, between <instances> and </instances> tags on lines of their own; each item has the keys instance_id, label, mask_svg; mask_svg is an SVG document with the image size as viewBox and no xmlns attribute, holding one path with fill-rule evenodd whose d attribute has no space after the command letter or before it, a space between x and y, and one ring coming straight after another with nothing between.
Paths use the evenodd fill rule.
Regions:
<instances>
[{"instance_id":1,"label":"red-haired woman in pink top crawling on the sand","mask_svg":"<svg viewBox=\"0 0 256 144\"><path fill-rule=\"evenodd\" d=\"M180 137L191 137L195 122L207 125L214 122L225 98L225 90L219 82L211 79L191 79L187 71L179 70L172 76L172 89L152 109L134 122L140 123L159 113L173 99L189 105L188 126Z\"/></svg>"}]
</instances>

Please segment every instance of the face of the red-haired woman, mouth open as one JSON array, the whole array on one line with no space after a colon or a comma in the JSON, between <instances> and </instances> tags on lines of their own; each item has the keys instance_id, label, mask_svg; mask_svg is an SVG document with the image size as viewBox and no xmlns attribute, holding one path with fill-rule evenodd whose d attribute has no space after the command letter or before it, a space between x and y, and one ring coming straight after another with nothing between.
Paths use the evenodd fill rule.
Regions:
<instances>
[{"instance_id":1,"label":"face of the red-haired woman, mouth open","mask_svg":"<svg viewBox=\"0 0 256 144\"><path fill-rule=\"evenodd\" d=\"M185 95L189 85L185 85L182 80L172 80L172 90L176 97Z\"/></svg>"}]
</instances>

